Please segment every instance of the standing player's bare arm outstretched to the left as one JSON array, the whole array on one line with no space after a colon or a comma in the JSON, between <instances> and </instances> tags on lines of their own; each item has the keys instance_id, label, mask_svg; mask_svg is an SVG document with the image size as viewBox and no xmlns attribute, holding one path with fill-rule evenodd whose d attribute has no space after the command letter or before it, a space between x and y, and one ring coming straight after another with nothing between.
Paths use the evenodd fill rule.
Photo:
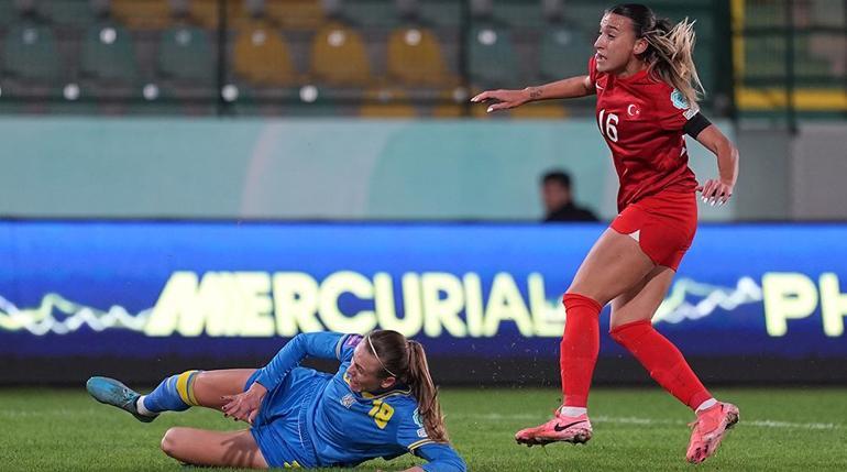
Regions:
<instances>
[{"instance_id":1,"label":"standing player's bare arm outstretched to the left","mask_svg":"<svg viewBox=\"0 0 847 472\"><path fill-rule=\"evenodd\" d=\"M520 107L524 103L557 98L578 98L594 95L594 84L590 76L576 76L554 83L527 87L522 90L486 90L471 99L473 102L486 103L488 112Z\"/></svg>"}]
</instances>

